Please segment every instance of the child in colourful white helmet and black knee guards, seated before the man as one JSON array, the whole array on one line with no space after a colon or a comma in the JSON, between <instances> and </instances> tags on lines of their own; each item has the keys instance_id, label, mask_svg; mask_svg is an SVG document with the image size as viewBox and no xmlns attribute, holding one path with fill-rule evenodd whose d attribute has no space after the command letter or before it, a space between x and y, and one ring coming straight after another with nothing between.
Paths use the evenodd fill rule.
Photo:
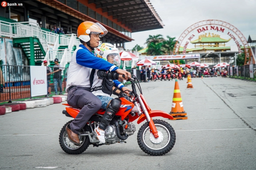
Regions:
<instances>
[{"instance_id":1,"label":"child in colourful white helmet and black knee guards, seated before the man","mask_svg":"<svg viewBox=\"0 0 256 170\"><path fill-rule=\"evenodd\" d=\"M114 45L110 43L102 43L95 49L95 55L96 57L100 57L102 59L107 60L108 62L114 64L114 65L120 65L120 55L118 52L118 49L114 47ZM98 99L101 100L102 106L101 109L105 109L106 112L102 117L102 120L100 122L100 125L94 129L96 132L96 136L100 142L105 143L105 129L109 125L110 121L114 117L114 115L119 111L119 108L121 106L121 100L118 98L112 98L110 97L113 93L118 94L122 93L121 90L118 90L117 88L122 88L124 85L121 83L117 86L117 88L114 88L113 83L116 81L112 81L112 79L104 78L102 76L104 72L101 70L95 70L92 69L91 75L90 75L90 83L91 83L91 92L98 97ZM122 75L116 75L116 79L118 79L119 76Z\"/></svg>"}]
</instances>

